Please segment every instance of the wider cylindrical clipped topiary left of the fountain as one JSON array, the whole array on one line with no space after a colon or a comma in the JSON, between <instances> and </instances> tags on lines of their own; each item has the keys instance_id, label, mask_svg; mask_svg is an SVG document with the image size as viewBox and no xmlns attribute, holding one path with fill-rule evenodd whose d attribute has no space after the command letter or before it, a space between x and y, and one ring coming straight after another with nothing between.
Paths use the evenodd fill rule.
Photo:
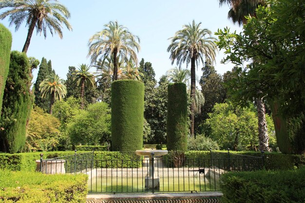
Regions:
<instances>
[{"instance_id":1,"label":"wider cylindrical clipped topiary left of the fountain","mask_svg":"<svg viewBox=\"0 0 305 203\"><path fill-rule=\"evenodd\" d=\"M144 84L116 80L111 85L111 135L113 151L143 147Z\"/></svg>"}]
</instances>

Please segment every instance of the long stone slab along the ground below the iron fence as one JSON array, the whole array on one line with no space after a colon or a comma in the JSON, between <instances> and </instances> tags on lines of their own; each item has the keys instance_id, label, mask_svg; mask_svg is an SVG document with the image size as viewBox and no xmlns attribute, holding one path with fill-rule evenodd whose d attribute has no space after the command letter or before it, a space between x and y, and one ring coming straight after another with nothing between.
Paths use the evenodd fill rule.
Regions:
<instances>
[{"instance_id":1,"label":"long stone slab along the ground below the iron fence","mask_svg":"<svg viewBox=\"0 0 305 203\"><path fill-rule=\"evenodd\" d=\"M86 203L219 203L221 192L88 194Z\"/></svg>"}]
</instances>

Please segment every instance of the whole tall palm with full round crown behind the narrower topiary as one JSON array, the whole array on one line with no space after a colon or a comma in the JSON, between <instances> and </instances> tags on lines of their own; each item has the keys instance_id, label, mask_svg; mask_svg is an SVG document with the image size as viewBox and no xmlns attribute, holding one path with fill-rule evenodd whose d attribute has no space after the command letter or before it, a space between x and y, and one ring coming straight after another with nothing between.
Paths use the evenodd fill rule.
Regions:
<instances>
[{"instance_id":1,"label":"whole tall palm with full round crown behind the narrower topiary","mask_svg":"<svg viewBox=\"0 0 305 203\"><path fill-rule=\"evenodd\" d=\"M191 62L191 136L194 136L194 112L195 112L195 90L196 90L196 74L195 65L204 63L204 59L215 61L217 48L215 45L216 38L212 37L212 33L208 29L200 28L201 22L184 25L182 30L175 33L170 46L167 51L170 52L170 59L172 64L174 60L177 65L186 62L188 66Z\"/></svg>"}]
</instances>

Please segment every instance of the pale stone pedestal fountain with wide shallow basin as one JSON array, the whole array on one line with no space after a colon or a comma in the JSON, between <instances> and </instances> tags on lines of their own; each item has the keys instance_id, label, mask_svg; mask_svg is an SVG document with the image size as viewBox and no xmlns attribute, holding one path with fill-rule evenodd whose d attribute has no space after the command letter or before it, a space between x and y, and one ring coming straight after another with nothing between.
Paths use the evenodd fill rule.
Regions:
<instances>
[{"instance_id":1,"label":"pale stone pedestal fountain with wide shallow basin","mask_svg":"<svg viewBox=\"0 0 305 203\"><path fill-rule=\"evenodd\" d=\"M159 150L159 149L151 149L151 150L136 150L135 154L139 156L149 156L149 171L145 176L145 188L160 188L160 179L159 176L154 174L154 157L161 157L166 155L168 150Z\"/></svg>"}]
</instances>

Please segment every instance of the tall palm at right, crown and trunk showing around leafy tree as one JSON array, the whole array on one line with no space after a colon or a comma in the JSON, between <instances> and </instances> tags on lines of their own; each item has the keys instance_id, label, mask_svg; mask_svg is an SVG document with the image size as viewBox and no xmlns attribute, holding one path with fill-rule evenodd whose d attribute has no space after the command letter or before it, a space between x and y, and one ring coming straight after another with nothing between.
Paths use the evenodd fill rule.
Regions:
<instances>
[{"instance_id":1,"label":"tall palm at right, crown and trunk showing around leafy tree","mask_svg":"<svg viewBox=\"0 0 305 203\"><path fill-rule=\"evenodd\" d=\"M237 23L238 25L246 24L247 19L245 16L255 17L255 9L258 5L265 5L266 0L219 0L219 5L229 4L230 10L228 18ZM255 58L253 58L255 60ZM258 94L263 94L258 90ZM259 149L263 151L270 151L268 146L268 130L266 122L266 108L263 96L256 98L256 107L258 113L258 136L259 136Z\"/></svg>"}]
</instances>

